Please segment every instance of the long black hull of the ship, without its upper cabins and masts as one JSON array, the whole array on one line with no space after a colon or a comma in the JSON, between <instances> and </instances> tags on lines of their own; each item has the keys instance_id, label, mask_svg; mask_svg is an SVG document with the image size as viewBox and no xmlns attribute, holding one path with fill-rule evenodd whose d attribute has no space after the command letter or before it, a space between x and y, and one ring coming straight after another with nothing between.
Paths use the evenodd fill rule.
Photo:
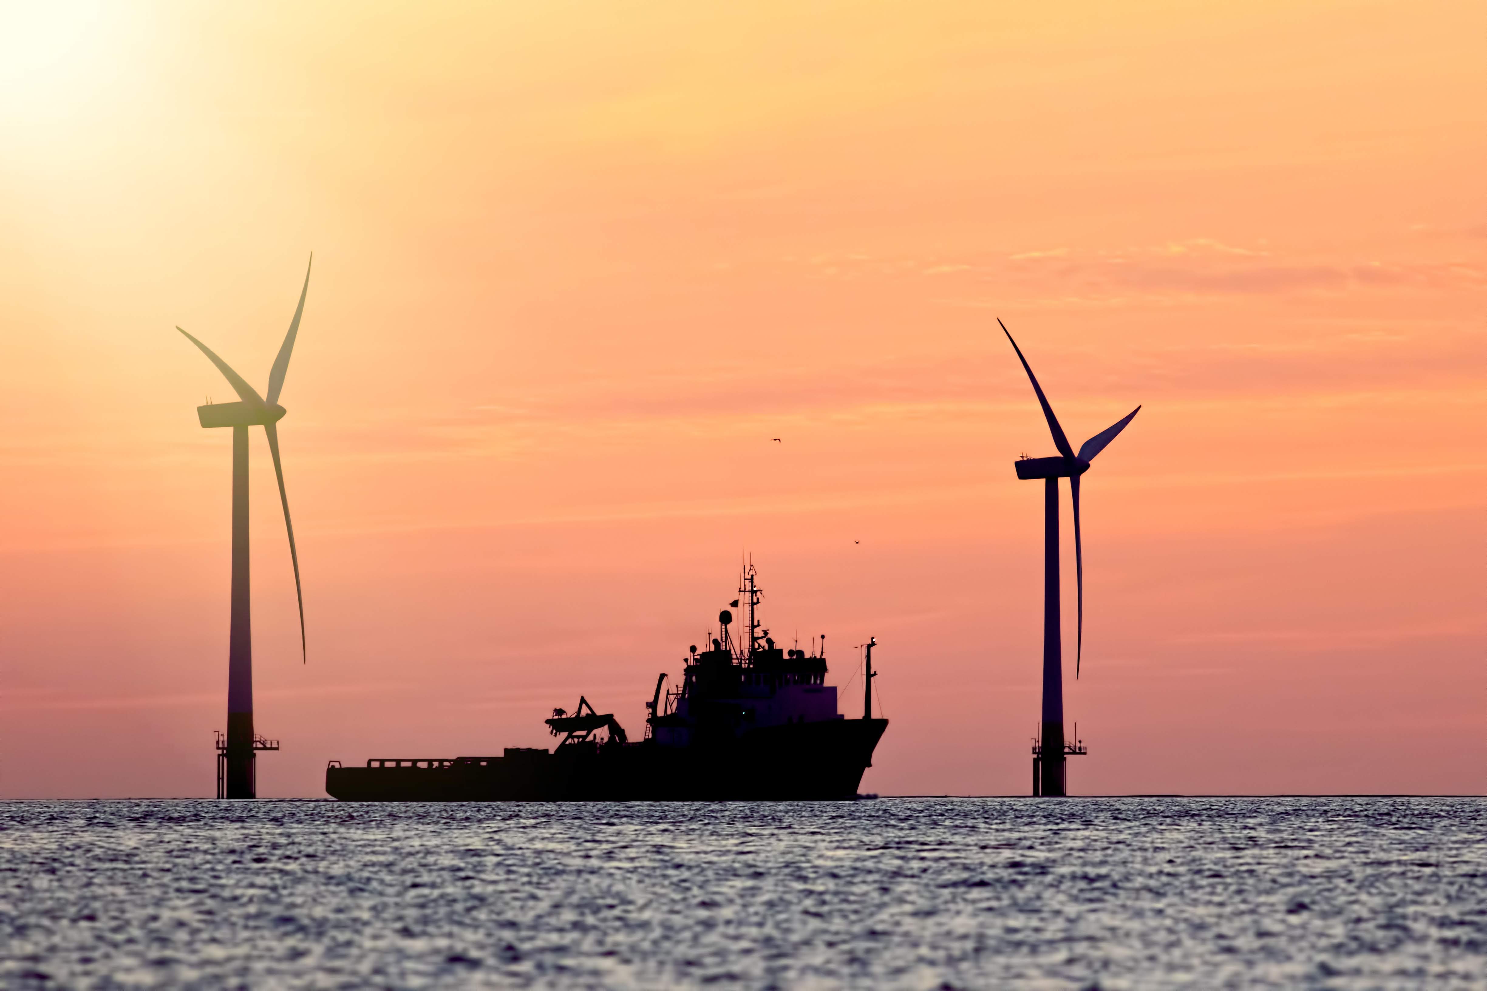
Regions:
<instances>
[{"instance_id":1,"label":"long black hull of the ship, without its upper cabins and masts","mask_svg":"<svg viewBox=\"0 0 1487 991\"><path fill-rule=\"evenodd\" d=\"M363 802L839 801L857 796L886 728L886 719L828 719L712 746L575 743L416 767L332 765L326 792Z\"/></svg>"}]
</instances>

